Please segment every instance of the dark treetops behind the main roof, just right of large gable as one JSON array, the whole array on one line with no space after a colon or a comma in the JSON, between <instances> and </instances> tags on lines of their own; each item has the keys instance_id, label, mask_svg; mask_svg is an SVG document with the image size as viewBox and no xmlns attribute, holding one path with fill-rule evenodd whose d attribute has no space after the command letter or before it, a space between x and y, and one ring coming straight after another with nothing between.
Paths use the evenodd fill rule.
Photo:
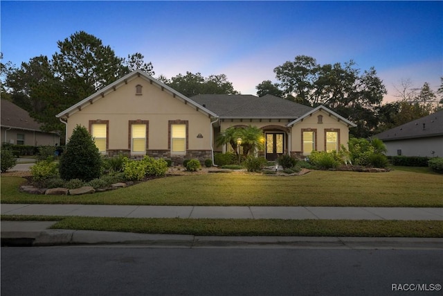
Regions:
<instances>
[{"instance_id":1,"label":"dark treetops behind the main roof, just right of large gable","mask_svg":"<svg viewBox=\"0 0 443 296\"><path fill-rule=\"evenodd\" d=\"M210 75L208 78L204 78L201 76L201 73L186 72L186 75L179 74L171 79L161 76L159 80L185 96L195 96L197 94L238 94L233 84L228 81L224 74Z\"/></svg>"}]
</instances>

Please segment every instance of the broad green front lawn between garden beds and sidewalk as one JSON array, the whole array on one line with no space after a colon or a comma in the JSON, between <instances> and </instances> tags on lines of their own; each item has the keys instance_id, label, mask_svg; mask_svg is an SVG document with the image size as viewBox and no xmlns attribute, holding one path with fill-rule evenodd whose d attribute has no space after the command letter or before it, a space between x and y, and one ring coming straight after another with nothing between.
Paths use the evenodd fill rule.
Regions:
<instances>
[{"instance_id":1,"label":"broad green front lawn between garden beds and sidewalk","mask_svg":"<svg viewBox=\"0 0 443 296\"><path fill-rule=\"evenodd\" d=\"M2 203L224 206L443 207L443 175L406 171L312 171L302 176L206 174L164 177L93 195L19 193L1 177Z\"/></svg>"}]
</instances>

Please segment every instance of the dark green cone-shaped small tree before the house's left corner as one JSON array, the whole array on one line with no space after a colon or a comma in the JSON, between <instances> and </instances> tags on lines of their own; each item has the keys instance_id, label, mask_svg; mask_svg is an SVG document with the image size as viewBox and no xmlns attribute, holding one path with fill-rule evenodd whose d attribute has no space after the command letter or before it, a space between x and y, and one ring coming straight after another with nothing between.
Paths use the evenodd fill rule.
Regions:
<instances>
[{"instance_id":1,"label":"dark green cone-shaped small tree before the house's left corner","mask_svg":"<svg viewBox=\"0 0 443 296\"><path fill-rule=\"evenodd\" d=\"M77 125L60 158L60 177L88 182L100 177L101 166L102 158L91 134Z\"/></svg>"}]
</instances>

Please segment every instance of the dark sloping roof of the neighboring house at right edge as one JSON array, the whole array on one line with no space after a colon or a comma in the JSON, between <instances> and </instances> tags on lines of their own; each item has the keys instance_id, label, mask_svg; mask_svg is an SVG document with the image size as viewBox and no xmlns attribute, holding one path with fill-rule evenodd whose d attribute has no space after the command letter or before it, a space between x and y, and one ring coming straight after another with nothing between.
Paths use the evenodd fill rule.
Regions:
<instances>
[{"instance_id":1,"label":"dark sloping roof of the neighboring house at right edge","mask_svg":"<svg viewBox=\"0 0 443 296\"><path fill-rule=\"evenodd\" d=\"M443 136L443 110L374 135L382 141L435 136Z\"/></svg>"}]
</instances>

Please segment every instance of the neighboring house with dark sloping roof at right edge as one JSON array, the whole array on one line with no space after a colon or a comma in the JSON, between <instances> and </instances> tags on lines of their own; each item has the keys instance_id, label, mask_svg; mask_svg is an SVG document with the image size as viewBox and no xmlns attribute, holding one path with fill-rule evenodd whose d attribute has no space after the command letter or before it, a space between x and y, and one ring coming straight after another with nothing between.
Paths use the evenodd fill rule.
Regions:
<instances>
[{"instance_id":1,"label":"neighboring house with dark sloping roof at right edge","mask_svg":"<svg viewBox=\"0 0 443 296\"><path fill-rule=\"evenodd\" d=\"M443 110L374 135L388 156L443 157Z\"/></svg>"}]
</instances>

